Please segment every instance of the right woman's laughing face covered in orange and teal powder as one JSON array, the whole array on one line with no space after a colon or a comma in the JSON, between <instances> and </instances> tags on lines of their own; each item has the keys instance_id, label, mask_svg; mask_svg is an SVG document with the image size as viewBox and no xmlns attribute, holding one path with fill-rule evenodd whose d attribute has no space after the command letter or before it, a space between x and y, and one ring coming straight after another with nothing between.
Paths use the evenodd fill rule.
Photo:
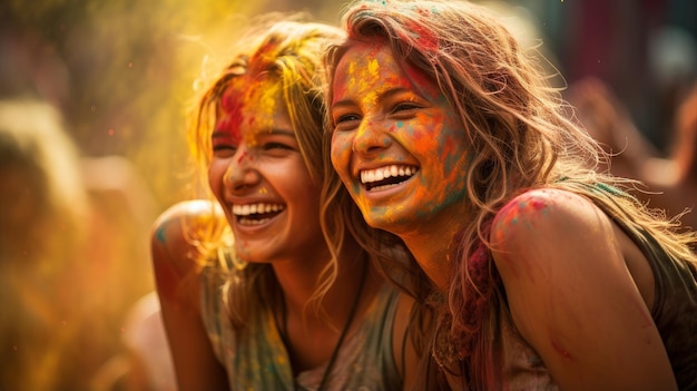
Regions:
<instances>
[{"instance_id":1,"label":"right woman's laughing face covered in orange and teal powder","mask_svg":"<svg viewBox=\"0 0 697 391\"><path fill-rule=\"evenodd\" d=\"M332 164L371 226L408 236L462 211L468 143L432 80L377 41L348 49L332 87Z\"/></svg>"}]
</instances>

